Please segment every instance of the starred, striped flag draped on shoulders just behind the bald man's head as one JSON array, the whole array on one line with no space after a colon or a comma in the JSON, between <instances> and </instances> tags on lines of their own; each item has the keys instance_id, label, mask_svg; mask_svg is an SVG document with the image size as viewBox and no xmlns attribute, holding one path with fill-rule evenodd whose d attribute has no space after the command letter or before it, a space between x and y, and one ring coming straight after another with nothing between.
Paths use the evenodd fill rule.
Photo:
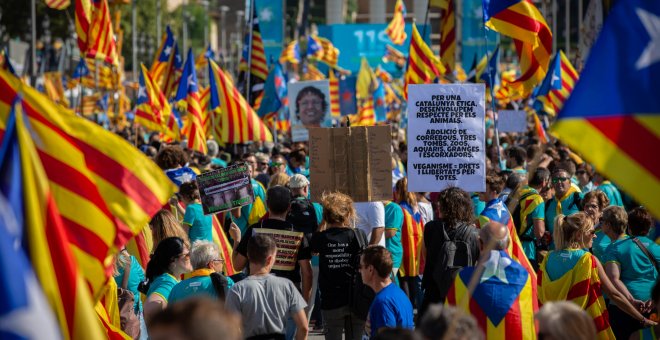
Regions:
<instances>
[{"instance_id":1,"label":"starred, striped flag draped on shoulders just behind the bald man's head","mask_svg":"<svg viewBox=\"0 0 660 340\"><path fill-rule=\"evenodd\" d=\"M518 261L518 263L520 263L523 268L527 270L532 280L536 280L536 272L534 271L532 264L529 262L527 255L525 255L522 243L518 237L516 226L513 225L513 218L511 218L511 213L509 213L509 209L507 209L504 202L499 198L486 203L486 207L479 215L479 227L483 227L490 221L503 224L507 227L509 230L509 239L511 242L509 242L509 247L507 248L506 252L509 254L509 256L511 256L512 259ZM534 290L534 295L536 295L536 287L532 287L532 289ZM538 310L538 302L536 299L533 301L533 307L534 312L536 312Z\"/></svg>"}]
</instances>

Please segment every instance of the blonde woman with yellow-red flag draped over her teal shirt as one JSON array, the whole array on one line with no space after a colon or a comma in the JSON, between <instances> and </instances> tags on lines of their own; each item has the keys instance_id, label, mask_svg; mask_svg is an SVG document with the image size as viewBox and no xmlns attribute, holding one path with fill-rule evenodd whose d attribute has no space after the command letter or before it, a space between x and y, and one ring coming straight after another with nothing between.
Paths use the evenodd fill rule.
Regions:
<instances>
[{"instance_id":1,"label":"blonde woman with yellow-red flag draped over her teal shirt","mask_svg":"<svg viewBox=\"0 0 660 340\"><path fill-rule=\"evenodd\" d=\"M601 293L622 311L643 325L655 324L640 314L610 282L600 261L585 249L591 248L595 231L593 221L585 213L555 218L553 239L556 250L541 263L539 301L570 300L584 309L594 320L599 339L614 339L607 307Z\"/></svg>"}]
</instances>

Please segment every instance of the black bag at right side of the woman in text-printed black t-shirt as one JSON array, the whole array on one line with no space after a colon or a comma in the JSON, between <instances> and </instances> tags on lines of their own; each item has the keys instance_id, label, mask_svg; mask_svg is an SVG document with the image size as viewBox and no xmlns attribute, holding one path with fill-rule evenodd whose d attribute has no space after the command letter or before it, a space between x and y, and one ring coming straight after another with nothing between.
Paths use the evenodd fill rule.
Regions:
<instances>
[{"instance_id":1,"label":"black bag at right side of the woman in text-printed black t-shirt","mask_svg":"<svg viewBox=\"0 0 660 340\"><path fill-rule=\"evenodd\" d=\"M366 237L363 238L363 234L358 233L355 228L351 228L351 230L353 231L355 240L358 242L359 250L351 259L353 275L351 276L351 291L348 295L348 305L351 312L360 318L360 320L367 320L369 308L376 297L376 293L373 289L362 282L362 275L360 275L360 257L362 257L362 252L367 247L367 240Z\"/></svg>"}]
</instances>

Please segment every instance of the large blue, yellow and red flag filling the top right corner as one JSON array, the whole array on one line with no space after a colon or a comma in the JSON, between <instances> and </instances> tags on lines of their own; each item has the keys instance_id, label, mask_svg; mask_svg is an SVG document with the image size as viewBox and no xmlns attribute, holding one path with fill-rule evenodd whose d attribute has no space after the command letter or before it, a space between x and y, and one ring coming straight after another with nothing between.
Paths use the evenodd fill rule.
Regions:
<instances>
[{"instance_id":1,"label":"large blue, yellow and red flag filling the top right corner","mask_svg":"<svg viewBox=\"0 0 660 340\"><path fill-rule=\"evenodd\" d=\"M660 218L660 2L618 2L552 132ZM598 93L598 100L594 100Z\"/></svg>"}]
</instances>

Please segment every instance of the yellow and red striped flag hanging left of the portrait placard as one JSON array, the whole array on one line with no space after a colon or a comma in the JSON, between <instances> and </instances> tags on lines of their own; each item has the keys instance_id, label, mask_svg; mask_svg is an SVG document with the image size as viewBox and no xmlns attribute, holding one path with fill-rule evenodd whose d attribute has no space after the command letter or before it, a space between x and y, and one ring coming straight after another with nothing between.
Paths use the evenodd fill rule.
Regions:
<instances>
[{"instance_id":1,"label":"yellow and red striped flag hanging left of the portrait placard","mask_svg":"<svg viewBox=\"0 0 660 340\"><path fill-rule=\"evenodd\" d=\"M245 143L273 140L268 127L213 60L209 63L209 82L210 109L220 110L220 119L213 122L214 129L219 129L220 132L217 136L218 142Z\"/></svg>"}]
</instances>

